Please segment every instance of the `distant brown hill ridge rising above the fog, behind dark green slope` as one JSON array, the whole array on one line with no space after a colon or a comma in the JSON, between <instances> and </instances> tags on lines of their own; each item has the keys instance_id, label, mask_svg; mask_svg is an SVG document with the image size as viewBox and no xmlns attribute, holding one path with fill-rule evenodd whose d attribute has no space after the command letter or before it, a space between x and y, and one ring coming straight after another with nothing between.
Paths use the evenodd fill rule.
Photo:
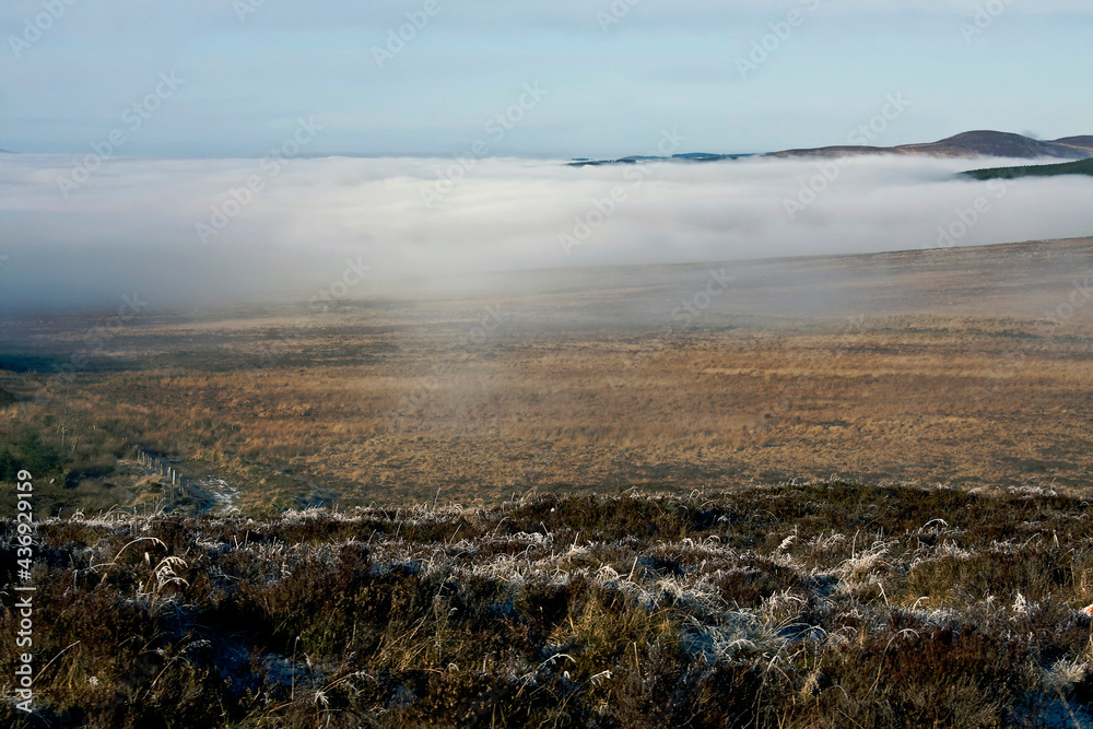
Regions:
<instances>
[{"instance_id":1,"label":"distant brown hill ridge rising above the fog, behind dark green slope","mask_svg":"<svg viewBox=\"0 0 1093 729\"><path fill-rule=\"evenodd\" d=\"M900 144L898 146L867 146L841 144L796 150L771 152L762 156L768 157L843 157L861 154L903 154L935 157L1008 157L1011 160L1037 160L1054 157L1056 160L1086 160L1093 157L1093 136L1065 137L1055 141L1041 141L1004 131L978 130L942 139L925 144ZM637 164L650 160L670 160L674 162L716 162L720 160L737 160L755 156L751 154L675 154L671 157L630 156L619 160L580 158L569 163L574 167Z\"/></svg>"}]
</instances>

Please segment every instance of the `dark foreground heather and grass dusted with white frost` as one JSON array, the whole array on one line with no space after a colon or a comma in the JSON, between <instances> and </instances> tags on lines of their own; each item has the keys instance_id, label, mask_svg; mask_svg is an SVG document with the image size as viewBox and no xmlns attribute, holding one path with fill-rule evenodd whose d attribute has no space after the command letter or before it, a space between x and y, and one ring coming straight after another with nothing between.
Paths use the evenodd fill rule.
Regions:
<instances>
[{"instance_id":1,"label":"dark foreground heather and grass dusted with white frost","mask_svg":"<svg viewBox=\"0 0 1093 729\"><path fill-rule=\"evenodd\" d=\"M26 726L1088 726L1090 510L824 482L55 519Z\"/></svg>"}]
</instances>

